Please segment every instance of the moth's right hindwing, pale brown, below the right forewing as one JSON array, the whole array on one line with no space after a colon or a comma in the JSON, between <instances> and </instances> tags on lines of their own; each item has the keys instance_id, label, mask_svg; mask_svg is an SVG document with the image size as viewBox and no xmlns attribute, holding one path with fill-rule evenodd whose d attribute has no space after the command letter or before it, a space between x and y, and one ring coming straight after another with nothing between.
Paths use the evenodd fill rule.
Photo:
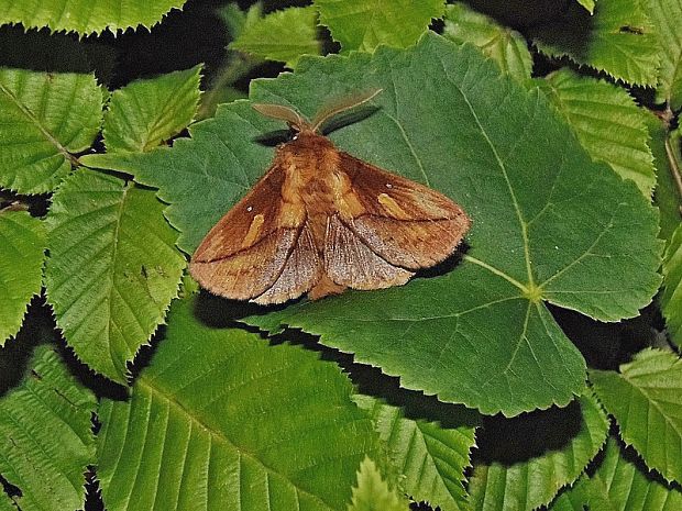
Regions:
<instances>
[{"instance_id":1,"label":"moth's right hindwing, pale brown, below the right forewing","mask_svg":"<svg viewBox=\"0 0 682 511\"><path fill-rule=\"evenodd\" d=\"M339 214L331 215L327 224L324 271L336 284L353 289L402 286L414 275L375 254Z\"/></svg>"}]
</instances>

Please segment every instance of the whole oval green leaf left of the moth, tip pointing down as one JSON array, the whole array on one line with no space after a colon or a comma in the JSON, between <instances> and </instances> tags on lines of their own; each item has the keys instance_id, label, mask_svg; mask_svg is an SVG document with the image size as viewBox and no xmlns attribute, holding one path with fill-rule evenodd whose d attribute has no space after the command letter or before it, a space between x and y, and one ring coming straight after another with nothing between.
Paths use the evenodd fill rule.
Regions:
<instances>
[{"instance_id":1,"label":"whole oval green leaf left of the moth, tip pointing down","mask_svg":"<svg viewBox=\"0 0 682 511\"><path fill-rule=\"evenodd\" d=\"M45 287L78 358L125 382L125 364L163 322L185 259L154 192L81 169L54 195Z\"/></svg>"}]
</instances>

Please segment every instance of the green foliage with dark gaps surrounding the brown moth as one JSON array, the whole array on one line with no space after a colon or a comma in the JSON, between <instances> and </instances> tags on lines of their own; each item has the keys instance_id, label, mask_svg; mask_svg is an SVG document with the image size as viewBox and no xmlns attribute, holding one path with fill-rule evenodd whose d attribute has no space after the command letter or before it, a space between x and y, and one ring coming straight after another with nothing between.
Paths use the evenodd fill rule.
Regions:
<instances>
[{"instance_id":1,"label":"green foliage with dark gaps surrounding the brown moth","mask_svg":"<svg viewBox=\"0 0 682 511\"><path fill-rule=\"evenodd\" d=\"M0 510L682 508L682 3L122 7L0 0ZM373 87L329 136L459 256L201 292L284 127L249 101Z\"/></svg>"}]
</instances>

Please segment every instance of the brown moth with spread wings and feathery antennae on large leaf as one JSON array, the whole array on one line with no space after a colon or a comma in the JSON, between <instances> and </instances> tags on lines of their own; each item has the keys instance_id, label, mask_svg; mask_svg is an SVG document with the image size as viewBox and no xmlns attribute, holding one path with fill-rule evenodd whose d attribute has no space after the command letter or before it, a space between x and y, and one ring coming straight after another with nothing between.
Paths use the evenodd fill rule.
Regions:
<instances>
[{"instance_id":1,"label":"brown moth with spread wings and feathery antennae on large leaf","mask_svg":"<svg viewBox=\"0 0 682 511\"><path fill-rule=\"evenodd\" d=\"M311 123L287 107L254 104L296 136L195 252L189 270L202 287L261 304L306 292L315 300L400 286L454 252L471 224L458 204L320 134L331 116L380 91L323 109Z\"/></svg>"}]
</instances>

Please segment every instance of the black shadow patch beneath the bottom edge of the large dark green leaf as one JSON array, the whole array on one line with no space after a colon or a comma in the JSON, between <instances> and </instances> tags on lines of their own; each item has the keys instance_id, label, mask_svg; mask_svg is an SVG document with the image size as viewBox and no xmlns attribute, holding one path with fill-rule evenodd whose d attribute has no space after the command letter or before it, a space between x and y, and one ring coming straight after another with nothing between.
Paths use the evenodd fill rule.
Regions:
<instances>
[{"instance_id":1,"label":"black shadow patch beneath the bottom edge of the large dark green leaf","mask_svg":"<svg viewBox=\"0 0 682 511\"><path fill-rule=\"evenodd\" d=\"M528 462L564 449L580 433L581 424L578 400L565 408L551 407L512 419L502 414L485 416L479 430L474 459L486 465L501 463L505 466Z\"/></svg>"}]
</instances>

